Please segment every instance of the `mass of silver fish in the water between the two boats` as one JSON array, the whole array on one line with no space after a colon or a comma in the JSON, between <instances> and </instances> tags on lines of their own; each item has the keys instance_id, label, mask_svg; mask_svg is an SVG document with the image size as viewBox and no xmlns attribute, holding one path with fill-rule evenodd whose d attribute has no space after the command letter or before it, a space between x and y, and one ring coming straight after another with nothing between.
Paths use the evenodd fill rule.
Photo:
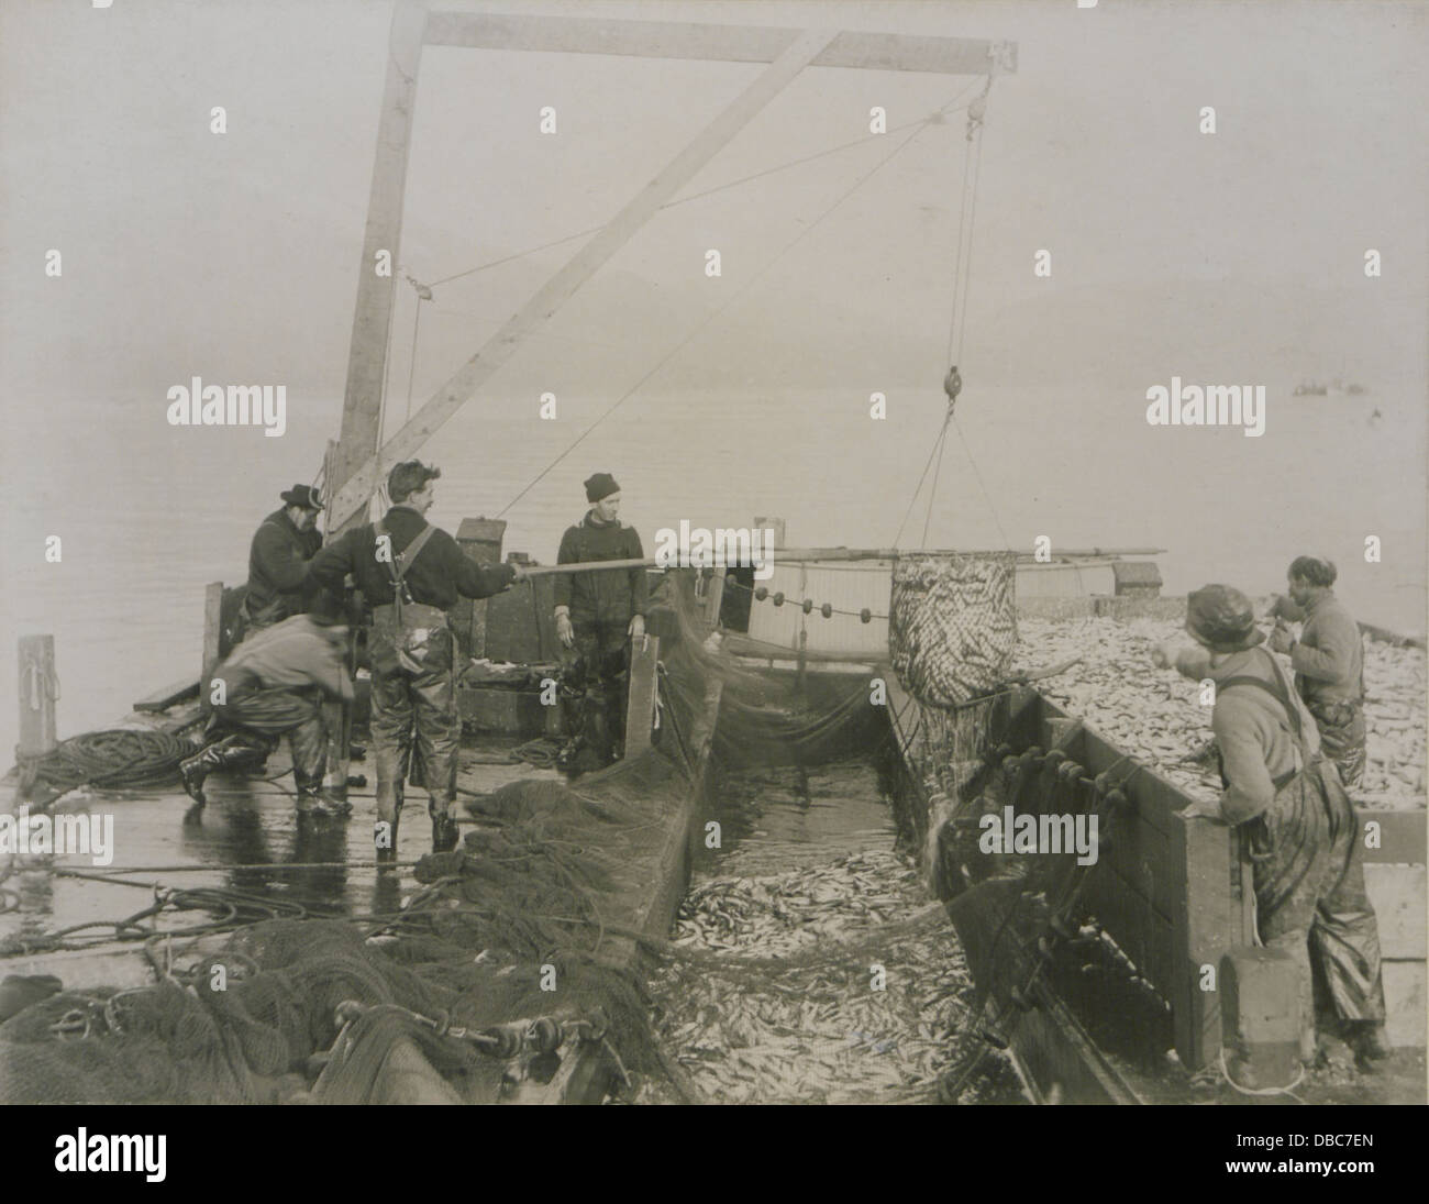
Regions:
<instances>
[{"instance_id":1,"label":"mass of silver fish in the water between the two boats","mask_svg":"<svg viewBox=\"0 0 1429 1204\"><path fill-rule=\"evenodd\" d=\"M972 977L942 917L879 937L926 902L912 862L885 851L704 882L674 944L723 957L667 962L652 984L657 1037L717 1102L936 1098Z\"/></svg>"}]
</instances>

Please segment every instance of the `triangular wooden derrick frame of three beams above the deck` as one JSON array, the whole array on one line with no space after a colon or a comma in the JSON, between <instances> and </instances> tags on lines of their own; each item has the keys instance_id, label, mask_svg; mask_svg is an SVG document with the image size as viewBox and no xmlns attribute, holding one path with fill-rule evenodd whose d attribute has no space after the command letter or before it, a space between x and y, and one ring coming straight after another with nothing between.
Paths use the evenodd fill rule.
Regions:
<instances>
[{"instance_id":1,"label":"triangular wooden derrick frame of three beams above the deck","mask_svg":"<svg viewBox=\"0 0 1429 1204\"><path fill-rule=\"evenodd\" d=\"M769 67L714 117L614 219L532 296L400 430L379 449L382 386L396 275L379 276L379 252L397 263L407 150L423 46L646 59L767 63ZM913 37L852 30L613 21L587 17L429 11L399 0L392 20L387 80L372 169L367 227L357 273L357 309L343 423L326 489L329 538L359 522L387 470L412 458L482 385L547 322L636 232L713 159L805 67L993 76L1016 71L1016 44L957 37Z\"/></svg>"}]
</instances>

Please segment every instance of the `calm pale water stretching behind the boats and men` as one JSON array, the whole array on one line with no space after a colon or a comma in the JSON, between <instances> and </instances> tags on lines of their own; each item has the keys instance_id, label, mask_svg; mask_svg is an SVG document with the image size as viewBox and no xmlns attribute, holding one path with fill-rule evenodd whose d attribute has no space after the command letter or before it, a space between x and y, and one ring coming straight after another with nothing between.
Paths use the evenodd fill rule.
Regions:
<instances>
[{"instance_id":1,"label":"calm pale water stretching behind the boats and men","mask_svg":"<svg viewBox=\"0 0 1429 1204\"><path fill-rule=\"evenodd\" d=\"M563 398L559 423L533 420L526 400L473 402L423 452L444 473L432 518L454 531L463 516L494 515L612 400ZM106 726L197 671L204 582L246 578L253 529L279 490L313 479L340 406L290 398L280 439L170 428L161 398L24 410L4 460L6 748L20 633L56 638L61 736ZM1423 631L1422 406L1272 395L1260 439L1149 428L1143 413L1126 390L969 389L959 422L1000 529L953 438L929 545L996 548L1000 531L1019 548L1036 535L1053 546L1150 543L1170 549L1167 593L1213 579L1275 589L1293 555L1319 549L1340 563L1340 593L1360 618ZM940 393L890 393L883 423L869 420L866 395L640 393L506 513L506 548L554 561L596 469L622 482L623 518L647 549L680 519L730 526L756 513L783 516L795 545L889 545L940 420ZM919 543L923 513L920 502L905 546ZM43 559L47 535L63 539L60 563ZM1382 539L1379 565L1362 561L1366 535Z\"/></svg>"}]
</instances>

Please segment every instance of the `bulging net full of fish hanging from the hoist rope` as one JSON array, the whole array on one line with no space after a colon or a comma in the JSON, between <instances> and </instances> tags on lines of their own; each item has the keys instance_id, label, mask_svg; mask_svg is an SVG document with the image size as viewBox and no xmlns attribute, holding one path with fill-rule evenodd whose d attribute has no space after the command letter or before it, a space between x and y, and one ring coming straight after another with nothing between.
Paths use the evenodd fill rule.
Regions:
<instances>
[{"instance_id":1,"label":"bulging net full of fish hanging from the hoist rope","mask_svg":"<svg viewBox=\"0 0 1429 1204\"><path fill-rule=\"evenodd\" d=\"M899 555L889 651L919 702L957 706L1007 679L1017 645L1015 569L1010 552Z\"/></svg>"}]
</instances>

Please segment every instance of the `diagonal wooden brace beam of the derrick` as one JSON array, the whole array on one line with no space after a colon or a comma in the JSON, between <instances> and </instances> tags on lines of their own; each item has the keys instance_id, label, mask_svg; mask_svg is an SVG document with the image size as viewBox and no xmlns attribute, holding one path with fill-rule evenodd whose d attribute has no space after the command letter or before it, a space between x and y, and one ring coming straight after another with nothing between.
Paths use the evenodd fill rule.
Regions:
<instances>
[{"instance_id":1,"label":"diagonal wooden brace beam of the derrick","mask_svg":"<svg viewBox=\"0 0 1429 1204\"><path fill-rule=\"evenodd\" d=\"M829 43L829 30L800 33L793 37L776 61L710 122L640 193L622 209L610 224L562 267L544 286L469 359L450 380L417 410L382 452L369 456L333 496L329 522L342 529L367 503L377 482L396 463L413 456L423 443L472 399L477 389L506 363L529 335L540 329L566 300L584 285L634 233L713 159L750 120L773 100ZM386 330L383 330L386 337Z\"/></svg>"}]
</instances>

